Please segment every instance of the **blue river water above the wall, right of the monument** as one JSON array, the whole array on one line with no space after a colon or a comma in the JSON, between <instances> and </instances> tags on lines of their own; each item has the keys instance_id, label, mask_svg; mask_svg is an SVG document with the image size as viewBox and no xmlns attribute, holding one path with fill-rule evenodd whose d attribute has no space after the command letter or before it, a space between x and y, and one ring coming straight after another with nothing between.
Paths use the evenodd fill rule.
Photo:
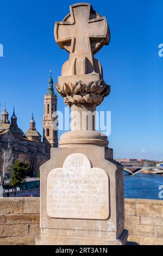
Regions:
<instances>
[{"instance_id":1,"label":"blue river water above the wall, right of the monument","mask_svg":"<svg viewBox=\"0 0 163 256\"><path fill-rule=\"evenodd\" d=\"M125 198L142 198L142 199L162 199L159 198L163 192L159 190L162 186L163 176L159 174L124 174L124 197Z\"/></svg>"}]
</instances>

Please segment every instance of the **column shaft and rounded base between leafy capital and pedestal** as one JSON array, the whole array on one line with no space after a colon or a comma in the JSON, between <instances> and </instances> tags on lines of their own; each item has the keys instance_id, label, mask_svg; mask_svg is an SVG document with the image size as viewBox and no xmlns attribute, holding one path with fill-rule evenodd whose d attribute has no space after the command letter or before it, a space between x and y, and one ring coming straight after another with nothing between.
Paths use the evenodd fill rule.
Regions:
<instances>
[{"instance_id":1,"label":"column shaft and rounded base between leafy capital and pedestal","mask_svg":"<svg viewBox=\"0 0 163 256\"><path fill-rule=\"evenodd\" d=\"M108 147L108 137L96 131L96 105L78 104L71 107L71 131L60 136L59 147Z\"/></svg>"}]
</instances>

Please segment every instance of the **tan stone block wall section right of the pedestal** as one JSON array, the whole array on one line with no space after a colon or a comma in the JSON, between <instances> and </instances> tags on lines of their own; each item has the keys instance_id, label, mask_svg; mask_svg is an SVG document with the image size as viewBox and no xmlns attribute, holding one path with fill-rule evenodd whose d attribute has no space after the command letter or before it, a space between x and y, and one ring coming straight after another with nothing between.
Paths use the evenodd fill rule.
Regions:
<instances>
[{"instance_id":1,"label":"tan stone block wall section right of the pedestal","mask_svg":"<svg viewBox=\"0 0 163 256\"><path fill-rule=\"evenodd\" d=\"M140 245L163 245L163 200L125 199L128 241Z\"/></svg>"}]
</instances>

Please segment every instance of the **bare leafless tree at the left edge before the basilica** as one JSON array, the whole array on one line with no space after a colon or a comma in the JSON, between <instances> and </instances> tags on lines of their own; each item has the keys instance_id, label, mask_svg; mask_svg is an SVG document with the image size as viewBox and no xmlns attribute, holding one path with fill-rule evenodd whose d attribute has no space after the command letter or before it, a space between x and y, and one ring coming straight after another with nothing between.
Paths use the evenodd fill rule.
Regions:
<instances>
[{"instance_id":1,"label":"bare leafless tree at the left edge before the basilica","mask_svg":"<svg viewBox=\"0 0 163 256\"><path fill-rule=\"evenodd\" d=\"M11 174L11 167L14 160L14 155L12 150L2 149L2 179L4 179L5 174Z\"/></svg>"}]
</instances>

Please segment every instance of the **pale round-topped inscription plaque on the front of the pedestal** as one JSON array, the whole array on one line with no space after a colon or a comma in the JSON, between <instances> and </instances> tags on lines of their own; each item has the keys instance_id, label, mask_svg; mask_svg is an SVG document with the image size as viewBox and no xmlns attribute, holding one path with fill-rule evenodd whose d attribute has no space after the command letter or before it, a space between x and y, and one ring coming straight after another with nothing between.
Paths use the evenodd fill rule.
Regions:
<instances>
[{"instance_id":1,"label":"pale round-topped inscription plaque on the front of the pedestal","mask_svg":"<svg viewBox=\"0 0 163 256\"><path fill-rule=\"evenodd\" d=\"M52 218L109 218L109 176L91 168L84 154L67 157L47 178L47 214Z\"/></svg>"}]
</instances>

